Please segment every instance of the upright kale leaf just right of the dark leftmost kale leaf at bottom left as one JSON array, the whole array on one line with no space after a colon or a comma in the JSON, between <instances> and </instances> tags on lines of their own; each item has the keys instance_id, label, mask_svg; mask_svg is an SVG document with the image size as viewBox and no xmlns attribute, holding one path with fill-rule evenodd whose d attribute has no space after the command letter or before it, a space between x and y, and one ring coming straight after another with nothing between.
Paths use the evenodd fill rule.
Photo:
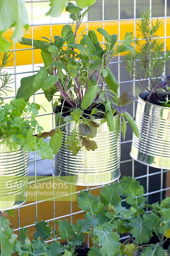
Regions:
<instances>
[{"instance_id":1,"label":"upright kale leaf just right of the dark leftmost kale leaf at bottom left","mask_svg":"<svg viewBox=\"0 0 170 256\"><path fill-rule=\"evenodd\" d=\"M61 239L69 239L72 235L74 235L74 232L72 230L72 226L68 220L59 220L58 221L58 232L61 236Z\"/></svg>"}]
</instances>

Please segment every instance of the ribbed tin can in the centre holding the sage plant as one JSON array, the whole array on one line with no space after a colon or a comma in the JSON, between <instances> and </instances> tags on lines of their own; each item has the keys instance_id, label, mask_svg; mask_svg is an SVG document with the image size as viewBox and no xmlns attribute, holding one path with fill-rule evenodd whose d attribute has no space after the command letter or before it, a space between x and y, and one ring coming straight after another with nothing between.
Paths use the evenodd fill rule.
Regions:
<instances>
[{"instance_id":1,"label":"ribbed tin can in the centre holding the sage plant","mask_svg":"<svg viewBox=\"0 0 170 256\"><path fill-rule=\"evenodd\" d=\"M120 177L120 132L121 129L110 132L107 122L96 119L100 123L95 140L98 148L87 151L81 148L76 156L68 149L67 137L75 126L71 122L63 126L63 143L59 152L53 158L53 175L59 180L65 176L76 177L73 184L94 186L113 182ZM114 116L114 122L119 122L120 115ZM119 125L120 127L120 125Z\"/></svg>"}]
</instances>

